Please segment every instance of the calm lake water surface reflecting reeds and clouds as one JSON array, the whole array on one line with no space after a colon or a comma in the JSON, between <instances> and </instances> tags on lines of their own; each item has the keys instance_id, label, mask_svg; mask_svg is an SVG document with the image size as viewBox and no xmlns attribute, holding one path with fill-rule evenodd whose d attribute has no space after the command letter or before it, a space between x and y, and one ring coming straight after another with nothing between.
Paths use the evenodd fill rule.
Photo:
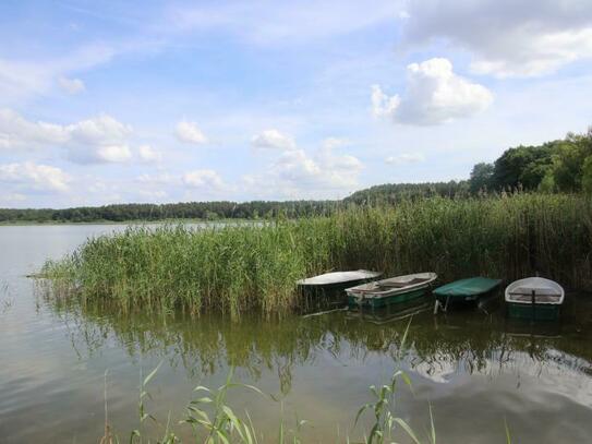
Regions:
<instances>
[{"instance_id":1,"label":"calm lake water surface reflecting reeds and clouds","mask_svg":"<svg viewBox=\"0 0 592 444\"><path fill-rule=\"evenodd\" d=\"M281 398L238 389L265 442L279 418L307 419L305 442L345 442L367 387L397 368L408 320L337 312L262 322L182 314L126 317L108 310L50 303L24 275L88 236L121 226L0 227L0 441L96 443L109 422L126 439L137 428L141 372L162 365L147 409L179 418L198 384L235 379ZM439 443L589 443L592 436L592 296L568 293L563 322L532 327L505 320L495 301L483 311L413 316L396 411L418 431L432 406ZM283 413L281 411L283 410ZM362 427L369 422L362 423ZM149 430L147 431L150 432ZM180 434L186 433L180 429ZM401 442L407 442L401 435Z\"/></svg>"}]
</instances>

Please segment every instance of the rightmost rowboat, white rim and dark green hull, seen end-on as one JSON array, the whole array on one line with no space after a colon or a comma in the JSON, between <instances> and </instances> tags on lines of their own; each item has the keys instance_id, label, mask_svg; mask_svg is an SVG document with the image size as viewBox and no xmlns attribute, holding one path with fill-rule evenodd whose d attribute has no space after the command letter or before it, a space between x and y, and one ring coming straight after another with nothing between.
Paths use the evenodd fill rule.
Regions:
<instances>
[{"instance_id":1,"label":"rightmost rowboat, white rim and dark green hull, seen end-on","mask_svg":"<svg viewBox=\"0 0 592 444\"><path fill-rule=\"evenodd\" d=\"M510 317L532 321L554 321L565 300L559 284L543 277L527 277L506 288L506 304Z\"/></svg>"}]
</instances>

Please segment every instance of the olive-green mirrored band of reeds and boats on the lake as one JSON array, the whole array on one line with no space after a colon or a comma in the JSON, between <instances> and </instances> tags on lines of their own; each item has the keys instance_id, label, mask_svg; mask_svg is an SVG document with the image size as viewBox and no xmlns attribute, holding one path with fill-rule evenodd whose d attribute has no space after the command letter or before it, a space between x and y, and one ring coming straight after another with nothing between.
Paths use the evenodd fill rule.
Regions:
<instances>
[{"instance_id":1,"label":"olive-green mirrored band of reeds and boats on the lake","mask_svg":"<svg viewBox=\"0 0 592 444\"><path fill-rule=\"evenodd\" d=\"M578 298L572 298L578 299ZM201 377L241 368L257 381L264 370L277 373L283 395L291 391L294 367L314 365L323 355L347 364L371 355L403 357L406 368L436 382L456 374L522 372L530 375L569 369L592 375L592 304L581 298L568 308L563 324L531 325L493 314L459 311L413 316L406 349L399 355L404 316L392 312L336 312L319 316L265 319L184 313L124 314L109 307L81 305L44 298L59 316L81 357L114 343L132 359L148 355L182 365ZM588 328L585 328L588 325Z\"/></svg>"}]
</instances>

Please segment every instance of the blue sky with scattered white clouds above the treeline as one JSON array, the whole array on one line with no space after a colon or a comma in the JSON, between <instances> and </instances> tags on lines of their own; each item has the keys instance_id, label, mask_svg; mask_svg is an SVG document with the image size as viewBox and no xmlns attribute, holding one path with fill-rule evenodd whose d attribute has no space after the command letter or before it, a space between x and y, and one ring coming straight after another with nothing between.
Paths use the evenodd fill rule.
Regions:
<instances>
[{"instance_id":1,"label":"blue sky with scattered white clouds above the treeline","mask_svg":"<svg viewBox=\"0 0 592 444\"><path fill-rule=\"evenodd\" d=\"M591 97L590 0L1 0L0 207L460 180Z\"/></svg>"}]
</instances>

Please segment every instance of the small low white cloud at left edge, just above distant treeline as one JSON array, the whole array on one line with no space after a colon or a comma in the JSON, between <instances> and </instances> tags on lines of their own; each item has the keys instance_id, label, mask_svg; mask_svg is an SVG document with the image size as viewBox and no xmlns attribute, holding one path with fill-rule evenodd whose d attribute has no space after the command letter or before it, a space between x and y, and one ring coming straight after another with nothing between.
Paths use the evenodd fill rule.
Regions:
<instances>
[{"instance_id":1,"label":"small low white cloud at left edge, just above distant treeline","mask_svg":"<svg viewBox=\"0 0 592 444\"><path fill-rule=\"evenodd\" d=\"M60 168L32 161L0 165L0 182L26 190L67 191L70 178Z\"/></svg>"}]
</instances>

